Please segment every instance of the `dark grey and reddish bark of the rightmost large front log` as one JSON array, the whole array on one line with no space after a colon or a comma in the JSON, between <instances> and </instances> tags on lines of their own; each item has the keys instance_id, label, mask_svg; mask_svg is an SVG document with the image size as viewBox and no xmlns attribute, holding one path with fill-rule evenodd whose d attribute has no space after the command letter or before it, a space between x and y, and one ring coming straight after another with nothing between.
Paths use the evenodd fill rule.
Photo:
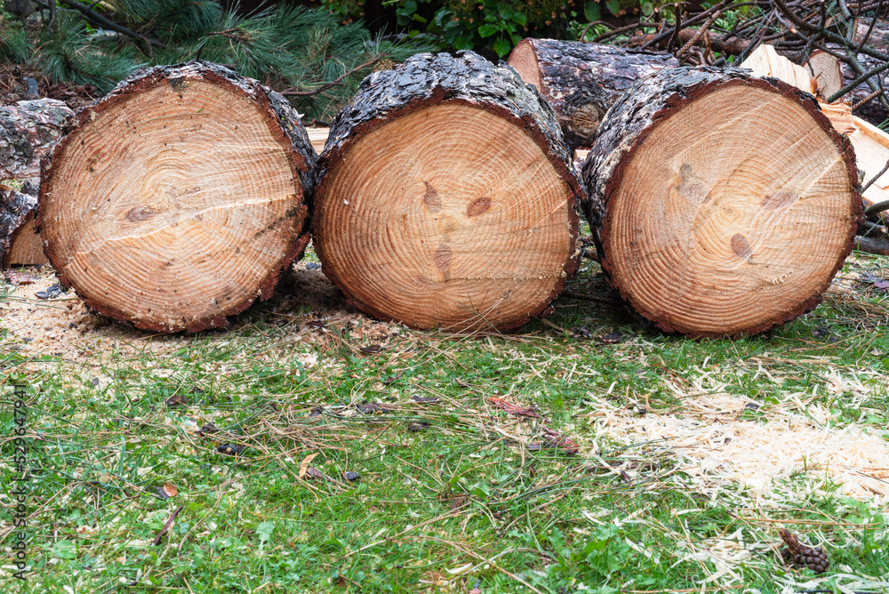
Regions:
<instances>
[{"instance_id":1,"label":"dark grey and reddish bark of the rightmost large front log","mask_svg":"<svg viewBox=\"0 0 889 594\"><path fill-rule=\"evenodd\" d=\"M821 114L817 102L809 93L798 91L795 87L777 79L751 76L749 70L741 68L670 68L639 81L627 94L614 103L599 128L596 143L591 148L581 169L581 181L584 182L587 189L587 197L581 203L581 207L593 230L594 237L597 238L600 262L608 282L621 294L621 300L628 305L631 311L641 313L667 332L685 332L693 336L721 335L721 333L688 332L685 329L664 323L652 312L639 311L629 296L627 290L629 287L621 286L614 281L613 259L626 258L628 254L608 252L609 200L619 189L623 170L629 165L631 157L661 121L675 114L691 101L715 90L717 86L731 84L757 86L799 102L839 148L841 158L845 160L845 168L849 172L850 188L853 189L855 197L853 202L860 207L861 200L856 189L853 150L848 141L833 129L827 117ZM720 121L717 115L708 117L714 123ZM853 205L851 208L854 210L854 207ZM857 216L861 216L860 211ZM855 226L852 225L849 229L845 253L837 253L836 268L830 274L831 277L842 266L845 257L851 250L854 230ZM820 289L810 299L798 304L786 315L769 320L765 324L747 328L741 333L764 332L775 325L794 319L806 311L811 311L821 301L821 293L827 289L827 285L820 287Z\"/></svg>"}]
</instances>

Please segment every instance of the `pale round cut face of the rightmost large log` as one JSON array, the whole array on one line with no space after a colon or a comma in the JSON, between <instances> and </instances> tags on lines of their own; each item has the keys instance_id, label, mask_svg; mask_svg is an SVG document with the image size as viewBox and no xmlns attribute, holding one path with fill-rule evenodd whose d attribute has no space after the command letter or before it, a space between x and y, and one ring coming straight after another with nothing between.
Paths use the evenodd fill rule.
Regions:
<instances>
[{"instance_id":1,"label":"pale round cut face of the rightmost large log","mask_svg":"<svg viewBox=\"0 0 889 594\"><path fill-rule=\"evenodd\" d=\"M781 319L829 283L849 242L845 162L773 92L728 86L695 100L647 136L622 180L608 213L606 251L623 254L614 282L686 333Z\"/></svg>"}]
</instances>

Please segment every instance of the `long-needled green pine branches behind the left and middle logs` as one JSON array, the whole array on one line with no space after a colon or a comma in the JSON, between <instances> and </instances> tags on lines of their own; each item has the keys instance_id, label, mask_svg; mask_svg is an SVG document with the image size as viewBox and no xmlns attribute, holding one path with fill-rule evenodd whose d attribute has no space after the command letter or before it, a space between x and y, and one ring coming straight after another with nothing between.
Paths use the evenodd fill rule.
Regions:
<instances>
[{"instance_id":1,"label":"long-needled green pine branches behind the left and middle logs","mask_svg":"<svg viewBox=\"0 0 889 594\"><path fill-rule=\"evenodd\" d=\"M300 112L329 120L372 66L404 60L427 46L372 38L360 22L341 25L324 10L279 4L251 15L225 11L217 0L117 0L105 16L135 32L117 33L59 9L52 25L28 29L4 13L0 56L40 70L52 81L92 84L108 92L134 68L200 58L234 68L276 91L312 92L292 100ZM141 36L141 38L140 38ZM149 47L145 38L156 42ZM365 65L364 68L362 65Z\"/></svg>"}]
</instances>

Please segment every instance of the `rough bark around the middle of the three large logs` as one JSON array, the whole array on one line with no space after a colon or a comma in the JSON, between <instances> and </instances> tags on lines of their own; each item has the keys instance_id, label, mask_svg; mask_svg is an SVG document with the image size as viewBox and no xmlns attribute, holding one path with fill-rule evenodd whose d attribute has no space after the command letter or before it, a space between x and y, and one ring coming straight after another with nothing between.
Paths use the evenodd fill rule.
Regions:
<instances>
[{"instance_id":1,"label":"rough bark around the middle of the three large logs","mask_svg":"<svg viewBox=\"0 0 889 594\"><path fill-rule=\"evenodd\" d=\"M346 107L340 109L340 113L333 120L330 134L327 137L327 142L324 144L324 152L318 157L315 191L317 195L322 193L324 182L327 180L327 174L330 173L332 166L340 161L340 158L348 152L351 145L361 135L422 108L443 103L467 105L469 107L486 109L519 126L538 148L545 154L555 157L550 158L550 163L554 165L557 173L570 190L567 200L568 224L571 228L570 231L575 249L565 261L563 267L564 276L559 278L552 294L544 300L540 309L534 310L528 317L494 327L499 332L508 333L527 324L533 317L546 317L552 313L555 310L552 307L552 301L562 292L565 281L576 277L581 261L581 249L577 246L580 237L580 220L577 215L577 205L582 203L585 194L574 171L573 161L568 149L562 141L562 132L556 120L556 113L549 106L549 103L542 99L540 92L532 84L525 84L516 69L509 65L501 63L501 66L493 66L491 62L475 52L458 52L458 56L458 58L454 58L448 53L420 53L406 60L395 70L379 70L364 78L358 87L356 96ZM435 63L436 60L438 60L437 63ZM435 68L435 66L447 68L448 65L446 63L448 61L458 66L458 72L461 61L469 68L471 68L473 63L481 62L489 65L488 68L492 68L495 75L503 77L514 76L515 81L510 82L517 82L519 89L524 90L529 95L525 103L539 107L540 111L529 112L521 110L517 108L515 103L505 100L500 95L488 92L490 84L486 80L480 81L481 84L477 86L472 86L469 84L472 82L472 79L459 75L454 75L453 78L445 80L438 78L439 71L432 68ZM408 90L405 91L405 88ZM469 89L474 89L475 92L470 92ZM394 100L388 101L388 104L383 101L380 101L378 104L369 97L365 99L366 96L372 96L374 91L377 90L388 91L388 98ZM392 91L396 92L392 93ZM359 109L359 105L364 104L371 108L366 111ZM312 221L312 231L314 235L316 231L315 218ZM315 245L315 251L318 259L324 261L324 248ZM322 267L322 271L340 289L344 295L344 300L349 305L381 321L395 321L392 317L382 314L371 305L364 303L364 301L356 300L348 295L345 285L328 267Z\"/></svg>"}]
</instances>

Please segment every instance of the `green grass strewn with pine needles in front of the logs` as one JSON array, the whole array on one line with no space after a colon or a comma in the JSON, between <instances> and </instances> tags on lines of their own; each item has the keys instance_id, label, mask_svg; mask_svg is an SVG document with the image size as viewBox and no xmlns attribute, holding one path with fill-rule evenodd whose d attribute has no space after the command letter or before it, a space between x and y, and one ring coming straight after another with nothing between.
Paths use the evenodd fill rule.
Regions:
<instances>
[{"instance_id":1,"label":"green grass strewn with pine needles in front of the logs","mask_svg":"<svg viewBox=\"0 0 889 594\"><path fill-rule=\"evenodd\" d=\"M889 265L862 256L844 274L861 269L880 276ZM281 311L281 298L178 349L132 333L135 351L82 363L4 336L0 435L11 435L12 384L26 383L33 476L29 580L0 564L2 590L887 591L885 496L844 495L814 470L765 498L708 486L659 444L605 435L595 413L668 414L719 392L759 404L743 411L759 423L796 397L834 427L885 438L889 301L851 285L736 341L668 336L565 298L547 323L502 337ZM597 267L573 289L602 292ZM573 338L581 326L592 340ZM624 340L597 340L613 332ZM545 429L580 453L539 447ZM225 443L244 452L220 454ZM4 506L11 459L6 439ZM164 484L178 494L164 500ZM829 571L781 566L779 526L821 544Z\"/></svg>"}]
</instances>

